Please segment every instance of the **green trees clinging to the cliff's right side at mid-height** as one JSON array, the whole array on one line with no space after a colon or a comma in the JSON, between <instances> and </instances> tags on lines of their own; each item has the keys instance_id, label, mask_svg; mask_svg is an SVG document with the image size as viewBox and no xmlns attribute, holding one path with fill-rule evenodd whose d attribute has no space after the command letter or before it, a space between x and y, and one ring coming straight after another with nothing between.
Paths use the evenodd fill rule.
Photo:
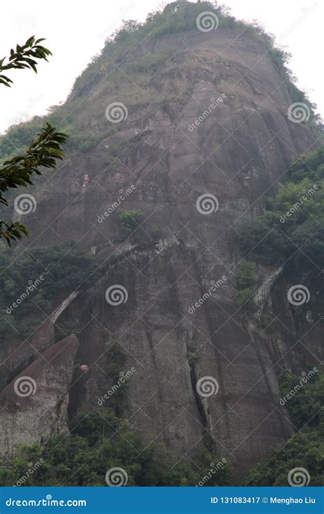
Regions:
<instances>
[{"instance_id":1,"label":"green trees clinging to the cliff's right side at mid-height","mask_svg":"<svg viewBox=\"0 0 324 514\"><path fill-rule=\"evenodd\" d=\"M300 156L259 219L240 229L245 256L265 265L321 267L324 254L324 147Z\"/></svg>"}]
</instances>

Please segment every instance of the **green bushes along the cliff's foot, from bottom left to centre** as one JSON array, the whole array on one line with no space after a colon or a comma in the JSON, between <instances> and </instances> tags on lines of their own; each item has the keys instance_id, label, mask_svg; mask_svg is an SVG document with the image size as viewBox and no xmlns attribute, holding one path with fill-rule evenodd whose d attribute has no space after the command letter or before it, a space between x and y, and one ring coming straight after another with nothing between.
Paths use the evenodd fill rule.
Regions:
<instances>
[{"instance_id":1,"label":"green bushes along the cliff's foot, from bottom left to centre","mask_svg":"<svg viewBox=\"0 0 324 514\"><path fill-rule=\"evenodd\" d=\"M163 445L144 443L126 421L105 408L82 413L73 421L70 435L51 437L43 448L21 446L16 458L0 466L0 484L105 486L105 475L114 467L124 469L127 486L198 485L204 476L208 476L205 485L228 484L226 465L209 478L211 461L217 463L204 452L197 465L189 465L185 459L174 465ZM38 462L40 467L28 474ZM27 480L22 480L23 476L28 476Z\"/></svg>"}]
</instances>

